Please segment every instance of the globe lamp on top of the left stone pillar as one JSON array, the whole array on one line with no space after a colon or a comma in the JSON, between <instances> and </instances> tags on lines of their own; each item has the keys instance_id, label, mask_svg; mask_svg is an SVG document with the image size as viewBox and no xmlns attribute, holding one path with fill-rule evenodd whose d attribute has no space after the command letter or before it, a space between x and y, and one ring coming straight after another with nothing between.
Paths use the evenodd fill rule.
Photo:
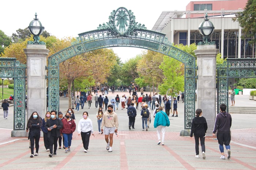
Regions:
<instances>
[{"instance_id":1,"label":"globe lamp on top of the left stone pillar","mask_svg":"<svg viewBox=\"0 0 256 170\"><path fill-rule=\"evenodd\" d=\"M29 32L34 35L34 42L28 41L28 44L45 44L45 42L39 41L39 35L41 35L44 32L45 27L43 27L41 22L37 19L37 13L35 13L35 18L30 22L28 28Z\"/></svg>"}]
</instances>

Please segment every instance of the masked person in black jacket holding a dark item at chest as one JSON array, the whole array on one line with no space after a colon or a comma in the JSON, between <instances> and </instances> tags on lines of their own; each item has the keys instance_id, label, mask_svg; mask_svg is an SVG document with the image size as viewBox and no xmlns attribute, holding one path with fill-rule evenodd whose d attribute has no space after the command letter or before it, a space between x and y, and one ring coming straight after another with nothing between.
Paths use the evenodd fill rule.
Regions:
<instances>
[{"instance_id":1,"label":"masked person in black jacket holding a dark item at chest","mask_svg":"<svg viewBox=\"0 0 256 170\"><path fill-rule=\"evenodd\" d=\"M51 111L51 118L47 120L45 124L45 129L48 130L49 139L49 157L56 156L57 151L57 141L60 136L60 129L63 128L63 123L60 119L57 119L57 112L55 110ZM31 144L32 145L32 144ZM54 145L54 150L53 150Z\"/></svg>"}]
</instances>

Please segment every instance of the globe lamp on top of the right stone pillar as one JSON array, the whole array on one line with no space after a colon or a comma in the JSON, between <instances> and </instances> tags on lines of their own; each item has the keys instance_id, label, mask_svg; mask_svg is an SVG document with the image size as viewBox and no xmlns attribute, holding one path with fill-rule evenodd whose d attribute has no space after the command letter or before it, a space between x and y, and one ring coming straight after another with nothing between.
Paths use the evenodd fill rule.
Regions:
<instances>
[{"instance_id":1,"label":"globe lamp on top of the right stone pillar","mask_svg":"<svg viewBox=\"0 0 256 170\"><path fill-rule=\"evenodd\" d=\"M203 42L200 41L198 45L203 45L203 44L215 44L215 41L210 42L209 36L212 34L214 31L214 26L211 21L207 18L208 15L206 13L205 19L202 23L199 24L199 32L201 35L203 35Z\"/></svg>"}]
</instances>

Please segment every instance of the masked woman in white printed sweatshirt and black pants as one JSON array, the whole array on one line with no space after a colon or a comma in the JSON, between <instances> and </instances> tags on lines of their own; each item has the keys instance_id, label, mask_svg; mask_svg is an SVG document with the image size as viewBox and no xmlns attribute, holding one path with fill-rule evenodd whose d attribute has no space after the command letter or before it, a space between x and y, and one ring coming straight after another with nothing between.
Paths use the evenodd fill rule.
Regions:
<instances>
[{"instance_id":1,"label":"masked woman in white printed sweatshirt and black pants","mask_svg":"<svg viewBox=\"0 0 256 170\"><path fill-rule=\"evenodd\" d=\"M83 148L84 152L88 152L89 142L90 142L90 136L93 135L93 122L90 118L88 118L88 112L83 112L83 118L79 120L78 123L78 136L81 134L81 138L83 141Z\"/></svg>"}]
</instances>

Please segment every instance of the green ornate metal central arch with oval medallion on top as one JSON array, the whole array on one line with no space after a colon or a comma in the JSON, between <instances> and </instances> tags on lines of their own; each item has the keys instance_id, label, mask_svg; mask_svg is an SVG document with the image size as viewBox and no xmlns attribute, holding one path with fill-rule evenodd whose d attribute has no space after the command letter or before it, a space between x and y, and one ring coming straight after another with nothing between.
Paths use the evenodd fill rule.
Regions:
<instances>
[{"instance_id":1,"label":"green ornate metal central arch with oval medallion on top","mask_svg":"<svg viewBox=\"0 0 256 170\"><path fill-rule=\"evenodd\" d=\"M84 52L108 47L136 47L156 51L184 63L185 99L184 128L190 129L195 115L196 59L172 46L165 34L147 30L137 23L131 10L120 7L113 10L109 22L96 30L80 33L76 41L48 58L49 110L59 110L59 64Z\"/></svg>"}]
</instances>

